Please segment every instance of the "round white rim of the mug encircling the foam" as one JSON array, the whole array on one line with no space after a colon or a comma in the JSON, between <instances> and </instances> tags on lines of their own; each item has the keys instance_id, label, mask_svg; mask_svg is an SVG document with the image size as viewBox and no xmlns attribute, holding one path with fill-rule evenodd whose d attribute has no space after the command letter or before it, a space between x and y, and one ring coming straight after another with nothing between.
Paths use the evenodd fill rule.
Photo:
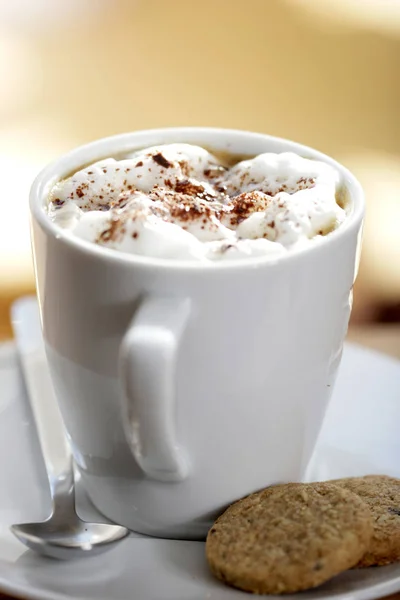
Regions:
<instances>
[{"instance_id":1,"label":"round white rim of the mug encircling the foam","mask_svg":"<svg viewBox=\"0 0 400 600\"><path fill-rule=\"evenodd\" d=\"M268 145L268 142L270 144L282 145L286 147L281 150L283 152L295 152L306 158L321 160L335 167L340 172L343 183L350 195L350 211L345 221L328 235L322 236L302 248L293 251L289 250L285 254L278 256L265 255L237 258L228 261L192 261L131 254L100 246L91 241L78 238L68 230L56 225L51 221L46 212L49 193L55 183L70 175L74 170L79 170L82 168L82 165L88 165L109 156L128 153L163 143L204 144L211 151L214 148L216 151L225 150L227 152L231 151L234 154L240 154L238 145L240 146L240 141L243 143L246 140L247 143L250 140L250 142L254 141L255 143L264 142L266 145ZM233 144L235 144L234 149L231 148ZM268 152L267 149L264 151ZM251 151L249 154L251 155ZM88 144L78 146L70 152L63 154L40 171L31 186L29 205L31 216L38 222L45 233L56 238L58 243L72 246L86 255L97 256L106 262L121 263L122 261L143 268L157 267L164 270L179 269L208 272L213 270L220 271L221 269L248 269L249 267L276 265L277 263L293 260L295 257L318 251L319 248L337 243L344 236L352 235L354 230L359 229L365 213L365 199L361 184L346 167L330 156L314 148L285 138L220 127L163 127L145 129L100 138Z\"/></svg>"}]
</instances>

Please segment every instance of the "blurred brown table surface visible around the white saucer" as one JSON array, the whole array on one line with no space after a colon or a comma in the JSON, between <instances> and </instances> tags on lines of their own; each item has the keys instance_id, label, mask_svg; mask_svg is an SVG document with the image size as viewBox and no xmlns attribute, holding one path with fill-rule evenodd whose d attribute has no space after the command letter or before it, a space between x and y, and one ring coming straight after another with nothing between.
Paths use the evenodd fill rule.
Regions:
<instances>
[{"instance_id":1,"label":"blurred brown table surface visible around the white saucer","mask_svg":"<svg viewBox=\"0 0 400 600\"><path fill-rule=\"evenodd\" d=\"M0 340L6 337L8 336L2 336L0 331ZM400 325L352 327L348 339L400 359ZM400 593L387 596L387 599L400 600ZM11 600L11 596L5 596L0 592L0 600Z\"/></svg>"}]
</instances>

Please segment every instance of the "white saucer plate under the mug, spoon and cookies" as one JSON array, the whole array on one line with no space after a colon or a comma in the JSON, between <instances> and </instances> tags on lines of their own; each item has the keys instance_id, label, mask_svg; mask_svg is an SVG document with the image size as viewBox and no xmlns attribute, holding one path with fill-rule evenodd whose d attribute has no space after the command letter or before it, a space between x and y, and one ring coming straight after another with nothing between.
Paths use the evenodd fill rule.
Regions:
<instances>
[{"instance_id":1,"label":"white saucer plate under the mug, spoon and cookies","mask_svg":"<svg viewBox=\"0 0 400 600\"><path fill-rule=\"evenodd\" d=\"M13 344L0 345L0 590L37 600L229 600L252 597L209 574L204 544L132 535L79 562L36 556L12 523L50 512L46 476ZM400 363L347 345L310 480L367 473L400 477ZM78 512L99 519L80 490ZM400 591L400 564L352 570L302 600L369 600ZM294 596L285 596L290 599Z\"/></svg>"}]
</instances>

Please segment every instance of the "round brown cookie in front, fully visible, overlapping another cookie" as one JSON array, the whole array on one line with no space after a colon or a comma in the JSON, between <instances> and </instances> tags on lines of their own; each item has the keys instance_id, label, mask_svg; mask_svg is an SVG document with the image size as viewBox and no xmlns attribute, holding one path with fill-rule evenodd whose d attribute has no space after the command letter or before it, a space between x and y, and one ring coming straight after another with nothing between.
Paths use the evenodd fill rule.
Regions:
<instances>
[{"instance_id":1,"label":"round brown cookie in front, fully visible, overlapping another cookie","mask_svg":"<svg viewBox=\"0 0 400 600\"><path fill-rule=\"evenodd\" d=\"M288 484L239 500L210 529L207 560L225 583L255 594L316 587L356 565L373 525L368 506L330 484Z\"/></svg>"}]
</instances>

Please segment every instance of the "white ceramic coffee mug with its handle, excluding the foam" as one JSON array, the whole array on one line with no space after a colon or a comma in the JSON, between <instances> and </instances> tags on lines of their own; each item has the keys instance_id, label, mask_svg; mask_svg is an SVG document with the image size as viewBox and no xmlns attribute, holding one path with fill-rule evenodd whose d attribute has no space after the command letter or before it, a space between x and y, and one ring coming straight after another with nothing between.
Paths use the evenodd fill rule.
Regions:
<instances>
[{"instance_id":1,"label":"white ceramic coffee mug with its handle, excluding the foam","mask_svg":"<svg viewBox=\"0 0 400 600\"><path fill-rule=\"evenodd\" d=\"M347 187L347 219L299 251L204 264L105 249L48 218L57 180L100 158L171 142L326 161ZM140 131L48 166L30 206L51 375L97 508L141 533L201 539L233 500L301 480L351 310L364 213L353 175L319 152L267 135Z\"/></svg>"}]
</instances>

